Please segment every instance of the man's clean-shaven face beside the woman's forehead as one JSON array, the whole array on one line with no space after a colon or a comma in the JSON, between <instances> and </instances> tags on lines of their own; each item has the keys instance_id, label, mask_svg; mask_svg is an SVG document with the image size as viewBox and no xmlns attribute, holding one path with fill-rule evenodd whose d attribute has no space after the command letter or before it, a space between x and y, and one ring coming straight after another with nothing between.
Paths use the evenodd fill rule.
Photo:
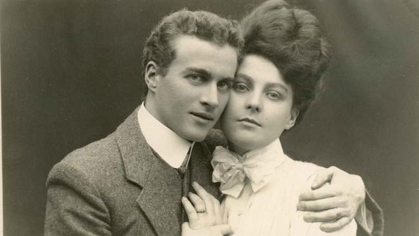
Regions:
<instances>
[{"instance_id":1,"label":"man's clean-shaven face beside the woman's forehead","mask_svg":"<svg viewBox=\"0 0 419 236\"><path fill-rule=\"evenodd\" d=\"M156 119L179 136L202 141L228 102L237 52L195 36L173 41L175 59L156 77Z\"/></svg>"}]
</instances>

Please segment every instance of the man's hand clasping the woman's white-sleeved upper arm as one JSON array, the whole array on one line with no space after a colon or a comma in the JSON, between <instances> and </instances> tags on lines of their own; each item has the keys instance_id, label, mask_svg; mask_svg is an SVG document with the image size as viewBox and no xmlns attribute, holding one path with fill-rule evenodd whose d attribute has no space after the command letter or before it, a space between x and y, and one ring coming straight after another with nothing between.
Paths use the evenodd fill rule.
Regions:
<instances>
[{"instance_id":1,"label":"man's hand clasping the woman's white-sleeved upper arm","mask_svg":"<svg viewBox=\"0 0 419 236\"><path fill-rule=\"evenodd\" d=\"M351 223L365 200L362 178L336 167L318 170L313 177L297 204L298 210L307 212L304 221L321 222L321 230L328 233Z\"/></svg>"}]
</instances>

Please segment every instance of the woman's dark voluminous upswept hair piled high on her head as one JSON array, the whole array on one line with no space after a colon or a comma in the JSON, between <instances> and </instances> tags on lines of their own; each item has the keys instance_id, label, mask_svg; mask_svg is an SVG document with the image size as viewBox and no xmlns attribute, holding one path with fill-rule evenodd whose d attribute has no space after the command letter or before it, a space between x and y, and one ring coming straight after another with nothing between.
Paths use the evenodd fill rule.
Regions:
<instances>
[{"instance_id":1,"label":"woman's dark voluminous upswept hair piled high on her head","mask_svg":"<svg viewBox=\"0 0 419 236\"><path fill-rule=\"evenodd\" d=\"M277 66L293 89L293 108L299 124L322 84L330 62L329 44L318 19L307 10L281 0L265 1L241 22L243 55L257 54Z\"/></svg>"}]
</instances>

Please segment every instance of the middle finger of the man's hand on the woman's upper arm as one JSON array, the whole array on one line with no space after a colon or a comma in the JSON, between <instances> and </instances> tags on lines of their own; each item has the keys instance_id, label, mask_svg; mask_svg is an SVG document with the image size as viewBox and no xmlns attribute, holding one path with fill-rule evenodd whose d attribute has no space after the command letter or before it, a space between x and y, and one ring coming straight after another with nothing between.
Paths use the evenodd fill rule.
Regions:
<instances>
[{"instance_id":1,"label":"middle finger of the man's hand on the woman's upper arm","mask_svg":"<svg viewBox=\"0 0 419 236\"><path fill-rule=\"evenodd\" d=\"M297 210L303 212L321 212L336 207L346 207L344 197L322 198L312 201L300 201L297 203Z\"/></svg>"}]
</instances>

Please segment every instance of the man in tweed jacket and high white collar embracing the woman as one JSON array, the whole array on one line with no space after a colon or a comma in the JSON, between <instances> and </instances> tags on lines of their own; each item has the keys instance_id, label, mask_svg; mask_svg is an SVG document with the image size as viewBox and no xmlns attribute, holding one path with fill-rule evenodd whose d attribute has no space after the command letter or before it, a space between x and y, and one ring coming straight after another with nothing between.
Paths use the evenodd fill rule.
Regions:
<instances>
[{"instance_id":1,"label":"man in tweed jacket and high white collar embracing the woman","mask_svg":"<svg viewBox=\"0 0 419 236\"><path fill-rule=\"evenodd\" d=\"M145 45L145 103L114 133L51 170L45 235L180 235L186 216L180 200L191 183L219 195L210 165L219 136L205 138L228 102L242 43L235 23L212 13L181 10L165 17ZM312 213L313 221L352 219L363 201L362 181L346 184L351 175L330 170L319 175L318 185L331 177L361 190L339 194L352 205ZM316 201L324 193L336 196L313 191L300 207L330 208Z\"/></svg>"}]
</instances>

